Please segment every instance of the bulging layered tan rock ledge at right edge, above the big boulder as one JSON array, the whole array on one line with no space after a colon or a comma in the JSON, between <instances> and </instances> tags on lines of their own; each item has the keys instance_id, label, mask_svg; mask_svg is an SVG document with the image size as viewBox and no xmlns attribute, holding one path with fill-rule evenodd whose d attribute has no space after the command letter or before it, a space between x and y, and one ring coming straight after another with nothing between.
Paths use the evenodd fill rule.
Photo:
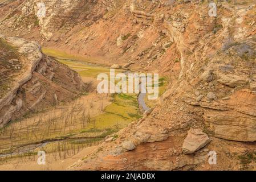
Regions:
<instances>
[{"instance_id":1,"label":"bulging layered tan rock ledge at right edge, above the big boulder","mask_svg":"<svg viewBox=\"0 0 256 182\"><path fill-rule=\"evenodd\" d=\"M256 141L256 96L249 89L239 90L225 101L230 110L208 110L205 123L214 137L242 142Z\"/></svg>"}]
</instances>

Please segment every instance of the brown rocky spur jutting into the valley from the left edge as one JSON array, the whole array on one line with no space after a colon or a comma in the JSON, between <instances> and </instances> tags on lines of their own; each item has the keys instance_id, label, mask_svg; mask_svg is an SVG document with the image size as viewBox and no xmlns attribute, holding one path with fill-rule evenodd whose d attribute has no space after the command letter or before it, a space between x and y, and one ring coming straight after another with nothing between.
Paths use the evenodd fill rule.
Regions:
<instances>
[{"instance_id":1,"label":"brown rocky spur jutting into the valley from the left edge","mask_svg":"<svg viewBox=\"0 0 256 182\"><path fill-rule=\"evenodd\" d=\"M78 73L21 38L0 38L0 126L85 92Z\"/></svg>"}]
</instances>

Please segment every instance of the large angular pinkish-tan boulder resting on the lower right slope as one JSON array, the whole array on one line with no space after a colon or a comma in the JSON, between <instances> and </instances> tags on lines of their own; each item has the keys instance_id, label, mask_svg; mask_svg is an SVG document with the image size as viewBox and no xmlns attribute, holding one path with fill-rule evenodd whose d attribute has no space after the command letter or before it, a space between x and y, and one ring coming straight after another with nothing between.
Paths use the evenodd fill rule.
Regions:
<instances>
[{"instance_id":1,"label":"large angular pinkish-tan boulder resting on the lower right slope","mask_svg":"<svg viewBox=\"0 0 256 182\"><path fill-rule=\"evenodd\" d=\"M201 129L190 129L183 142L182 151L184 154L193 154L209 142L210 138Z\"/></svg>"}]
</instances>

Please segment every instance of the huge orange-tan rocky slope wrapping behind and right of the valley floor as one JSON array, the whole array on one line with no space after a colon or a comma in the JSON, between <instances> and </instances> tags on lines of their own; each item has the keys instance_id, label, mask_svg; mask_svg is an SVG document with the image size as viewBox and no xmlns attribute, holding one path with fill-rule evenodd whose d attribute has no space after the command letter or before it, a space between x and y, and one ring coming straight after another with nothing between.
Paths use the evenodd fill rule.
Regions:
<instances>
[{"instance_id":1,"label":"huge orange-tan rocky slope wrapping behind and right of the valley floor","mask_svg":"<svg viewBox=\"0 0 256 182\"><path fill-rule=\"evenodd\" d=\"M151 114L71 169L255 169L254 1L217 3L216 17L206 1L47 1L40 18L37 2L6 13L1 32L169 80Z\"/></svg>"}]
</instances>

